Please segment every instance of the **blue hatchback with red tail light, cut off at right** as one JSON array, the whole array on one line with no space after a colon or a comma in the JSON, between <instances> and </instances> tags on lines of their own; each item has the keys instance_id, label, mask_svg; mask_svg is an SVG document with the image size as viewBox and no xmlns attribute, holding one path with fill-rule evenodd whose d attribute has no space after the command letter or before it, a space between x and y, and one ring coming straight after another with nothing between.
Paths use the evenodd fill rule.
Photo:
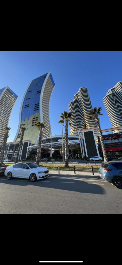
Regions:
<instances>
[{"instance_id":1,"label":"blue hatchback with red tail light, cut off at right","mask_svg":"<svg viewBox=\"0 0 122 265\"><path fill-rule=\"evenodd\" d=\"M122 189L122 161L105 161L98 170L99 176Z\"/></svg>"}]
</instances>

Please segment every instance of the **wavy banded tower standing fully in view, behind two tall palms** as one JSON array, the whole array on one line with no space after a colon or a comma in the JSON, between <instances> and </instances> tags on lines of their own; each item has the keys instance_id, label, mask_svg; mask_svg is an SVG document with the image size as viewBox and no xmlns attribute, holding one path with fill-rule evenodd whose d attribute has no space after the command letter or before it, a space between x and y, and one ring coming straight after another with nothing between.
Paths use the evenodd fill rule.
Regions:
<instances>
[{"instance_id":1,"label":"wavy banded tower standing fully in view, behind two tall palms","mask_svg":"<svg viewBox=\"0 0 122 265\"><path fill-rule=\"evenodd\" d=\"M73 101L69 103L69 112L72 112L70 134L76 135L78 130L90 129L97 127L96 120L89 120L89 110L92 110L88 89L80 87L77 94L74 95ZM98 133L94 131L96 140Z\"/></svg>"}]
</instances>

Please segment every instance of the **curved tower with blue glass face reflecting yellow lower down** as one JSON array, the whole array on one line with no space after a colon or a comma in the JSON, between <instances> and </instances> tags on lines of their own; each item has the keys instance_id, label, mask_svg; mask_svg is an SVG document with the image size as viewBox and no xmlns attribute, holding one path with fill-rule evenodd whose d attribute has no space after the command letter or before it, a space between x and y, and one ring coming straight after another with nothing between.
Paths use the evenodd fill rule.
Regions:
<instances>
[{"instance_id":1,"label":"curved tower with blue glass face reflecting yellow lower down","mask_svg":"<svg viewBox=\"0 0 122 265\"><path fill-rule=\"evenodd\" d=\"M14 141L20 140L20 126L22 126L27 129L23 140L32 140L33 143L37 143L39 131L34 126L36 122L46 122L42 137L46 137L51 133L49 104L54 87L55 83L51 72L31 80L21 103L19 125Z\"/></svg>"}]
</instances>

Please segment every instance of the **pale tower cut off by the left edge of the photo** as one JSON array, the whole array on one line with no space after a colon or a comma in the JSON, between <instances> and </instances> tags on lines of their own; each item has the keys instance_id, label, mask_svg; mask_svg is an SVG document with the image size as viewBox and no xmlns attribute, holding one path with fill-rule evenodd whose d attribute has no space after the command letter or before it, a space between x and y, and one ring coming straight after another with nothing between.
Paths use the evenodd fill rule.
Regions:
<instances>
[{"instance_id":1,"label":"pale tower cut off by the left edge of the photo","mask_svg":"<svg viewBox=\"0 0 122 265\"><path fill-rule=\"evenodd\" d=\"M18 99L18 96L8 87L0 89L0 143L3 143L6 133L5 127L8 127L12 109Z\"/></svg>"}]
</instances>

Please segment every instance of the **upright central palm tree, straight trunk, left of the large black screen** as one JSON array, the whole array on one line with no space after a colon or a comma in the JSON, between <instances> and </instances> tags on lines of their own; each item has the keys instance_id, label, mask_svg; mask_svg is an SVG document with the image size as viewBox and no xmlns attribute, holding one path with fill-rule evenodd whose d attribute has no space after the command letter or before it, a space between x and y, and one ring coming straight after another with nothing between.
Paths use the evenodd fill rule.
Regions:
<instances>
[{"instance_id":1,"label":"upright central palm tree, straight trunk, left of the large black screen","mask_svg":"<svg viewBox=\"0 0 122 265\"><path fill-rule=\"evenodd\" d=\"M70 120L71 120L72 112L67 112L64 110L64 113L61 113L60 120L58 123L64 124L65 121L65 167L69 167L69 148L68 148L68 122L69 126L71 126Z\"/></svg>"}]
</instances>

